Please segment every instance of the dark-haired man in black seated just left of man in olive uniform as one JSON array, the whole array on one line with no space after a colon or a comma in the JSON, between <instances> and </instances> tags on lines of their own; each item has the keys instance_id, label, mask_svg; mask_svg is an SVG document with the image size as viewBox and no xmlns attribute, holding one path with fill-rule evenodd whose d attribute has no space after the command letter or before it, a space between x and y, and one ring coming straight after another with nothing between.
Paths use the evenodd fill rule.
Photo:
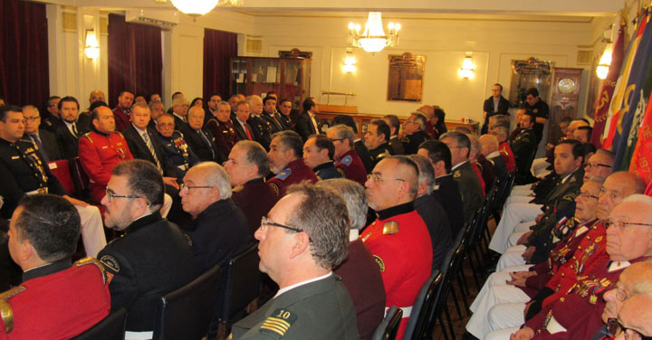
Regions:
<instances>
[{"instance_id":1,"label":"dark-haired man in black seated just left of man in olive uniform","mask_svg":"<svg viewBox=\"0 0 652 340\"><path fill-rule=\"evenodd\" d=\"M453 176L450 174L451 155L446 144L438 140L427 140L423 142L417 151L417 155L426 156L435 170L435 185L432 196L444 208L448 218L448 225L451 235L464 227L464 205L462 195Z\"/></svg>"}]
</instances>

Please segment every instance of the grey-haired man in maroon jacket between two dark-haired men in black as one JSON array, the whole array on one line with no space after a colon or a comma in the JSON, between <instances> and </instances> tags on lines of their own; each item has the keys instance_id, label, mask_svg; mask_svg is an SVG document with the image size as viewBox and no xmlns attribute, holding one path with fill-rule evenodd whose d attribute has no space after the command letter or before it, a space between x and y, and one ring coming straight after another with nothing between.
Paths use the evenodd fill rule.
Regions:
<instances>
[{"instance_id":1,"label":"grey-haired man in maroon jacket between two dark-haired men in black","mask_svg":"<svg viewBox=\"0 0 652 340\"><path fill-rule=\"evenodd\" d=\"M326 132L335 146L335 166L344 172L344 177L362 185L367 181L367 169L353 148L355 135L346 125L336 125Z\"/></svg>"}]
</instances>

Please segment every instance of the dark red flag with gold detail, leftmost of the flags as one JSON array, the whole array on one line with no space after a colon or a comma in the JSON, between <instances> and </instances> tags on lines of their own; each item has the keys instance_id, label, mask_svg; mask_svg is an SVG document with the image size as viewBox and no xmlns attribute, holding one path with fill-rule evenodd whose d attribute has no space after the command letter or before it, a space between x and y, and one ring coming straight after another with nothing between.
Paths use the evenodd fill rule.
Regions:
<instances>
[{"instance_id":1,"label":"dark red flag with gold detail, leftmost of the flags","mask_svg":"<svg viewBox=\"0 0 652 340\"><path fill-rule=\"evenodd\" d=\"M618 30L618 38L616 38L616 42L614 42L613 45L613 51L611 52L609 73L607 73L607 78L602 83L602 89L599 91L598 103L596 103L595 114L593 115L594 124L590 142L597 148L602 147L602 132L604 131L605 122L609 115L609 103L611 102L611 97L616 88L616 81L618 81L618 75L620 75L623 58L625 57L624 46L626 29L627 25L623 24Z\"/></svg>"}]
</instances>

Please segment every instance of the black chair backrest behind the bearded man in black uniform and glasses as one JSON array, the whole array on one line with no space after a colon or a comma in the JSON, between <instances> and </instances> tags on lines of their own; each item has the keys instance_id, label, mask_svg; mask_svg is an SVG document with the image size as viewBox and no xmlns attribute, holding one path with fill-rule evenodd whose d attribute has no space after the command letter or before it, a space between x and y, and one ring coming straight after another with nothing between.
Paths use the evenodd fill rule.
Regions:
<instances>
[{"instance_id":1,"label":"black chair backrest behind the bearded man in black uniform and glasses","mask_svg":"<svg viewBox=\"0 0 652 340\"><path fill-rule=\"evenodd\" d=\"M154 325L154 339L198 340L208 333L221 278L219 265L197 279L161 297Z\"/></svg>"}]
</instances>

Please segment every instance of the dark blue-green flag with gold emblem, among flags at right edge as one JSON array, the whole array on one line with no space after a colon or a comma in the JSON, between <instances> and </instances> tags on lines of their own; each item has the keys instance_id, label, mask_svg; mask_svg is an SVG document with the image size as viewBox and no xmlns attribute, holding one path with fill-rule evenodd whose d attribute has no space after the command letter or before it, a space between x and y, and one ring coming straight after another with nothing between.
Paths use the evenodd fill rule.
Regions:
<instances>
[{"instance_id":1,"label":"dark blue-green flag with gold emblem, among flags at right edge","mask_svg":"<svg viewBox=\"0 0 652 340\"><path fill-rule=\"evenodd\" d=\"M649 14L646 15L649 21ZM638 139L638 126L647 108L650 90L652 90L652 26L647 25L638 46L637 56L631 68L631 76L623 110L620 114L618 129L614 134L612 151L616 153L616 170L628 170L629 160L634 153Z\"/></svg>"}]
</instances>

